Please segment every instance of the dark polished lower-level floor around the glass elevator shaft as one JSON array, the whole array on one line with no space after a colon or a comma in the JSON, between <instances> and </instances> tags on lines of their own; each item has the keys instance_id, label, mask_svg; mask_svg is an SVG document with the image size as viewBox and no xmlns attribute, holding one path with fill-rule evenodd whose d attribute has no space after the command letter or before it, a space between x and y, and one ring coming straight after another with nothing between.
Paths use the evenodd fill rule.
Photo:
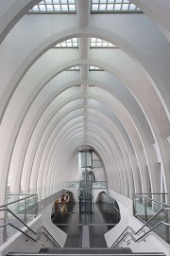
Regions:
<instances>
[{"instance_id":1,"label":"dark polished lower-level floor around the glass elevator shaft","mask_svg":"<svg viewBox=\"0 0 170 256\"><path fill-rule=\"evenodd\" d=\"M120 220L120 214L108 203L93 204L92 214L79 214L75 203L61 204L62 212L53 214L53 223L68 234L64 247L82 247L83 226L89 227L90 247L107 247L104 234ZM64 210L65 209L65 210Z\"/></svg>"}]
</instances>

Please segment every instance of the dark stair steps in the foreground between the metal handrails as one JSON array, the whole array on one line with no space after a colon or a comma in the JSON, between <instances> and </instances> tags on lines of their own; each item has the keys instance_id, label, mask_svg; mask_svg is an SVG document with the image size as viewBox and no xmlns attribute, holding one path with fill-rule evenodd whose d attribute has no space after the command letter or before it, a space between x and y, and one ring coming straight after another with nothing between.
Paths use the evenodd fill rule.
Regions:
<instances>
[{"instance_id":1,"label":"dark stair steps in the foreground between the metal handrails","mask_svg":"<svg viewBox=\"0 0 170 256\"><path fill-rule=\"evenodd\" d=\"M51 248L51 247L43 247L39 253L19 253L19 252L9 252L8 256L54 256L54 255L104 255L104 256L111 256L111 255L119 255L119 256L165 256L164 253L161 252L147 252L147 253L133 253L129 248Z\"/></svg>"}]
</instances>

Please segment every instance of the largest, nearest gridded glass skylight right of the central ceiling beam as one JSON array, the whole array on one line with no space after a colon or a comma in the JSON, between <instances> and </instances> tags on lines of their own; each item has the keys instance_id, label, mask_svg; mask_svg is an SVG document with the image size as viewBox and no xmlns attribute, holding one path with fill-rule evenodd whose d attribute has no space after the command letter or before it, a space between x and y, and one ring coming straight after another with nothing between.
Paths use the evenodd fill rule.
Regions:
<instances>
[{"instance_id":1,"label":"largest, nearest gridded glass skylight right of the central ceiling beam","mask_svg":"<svg viewBox=\"0 0 170 256\"><path fill-rule=\"evenodd\" d=\"M92 0L92 12L141 12L128 0Z\"/></svg>"}]
</instances>

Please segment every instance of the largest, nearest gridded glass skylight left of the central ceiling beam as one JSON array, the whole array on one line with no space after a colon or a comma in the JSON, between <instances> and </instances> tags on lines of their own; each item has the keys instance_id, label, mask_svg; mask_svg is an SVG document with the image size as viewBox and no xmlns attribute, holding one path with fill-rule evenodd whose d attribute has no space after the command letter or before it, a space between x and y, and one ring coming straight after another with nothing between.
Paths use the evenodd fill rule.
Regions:
<instances>
[{"instance_id":1,"label":"largest, nearest gridded glass skylight left of the central ceiling beam","mask_svg":"<svg viewBox=\"0 0 170 256\"><path fill-rule=\"evenodd\" d=\"M76 13L76 0L42 0L38 5L29 10L28 13Z\"/></svg>"}]
</instances>

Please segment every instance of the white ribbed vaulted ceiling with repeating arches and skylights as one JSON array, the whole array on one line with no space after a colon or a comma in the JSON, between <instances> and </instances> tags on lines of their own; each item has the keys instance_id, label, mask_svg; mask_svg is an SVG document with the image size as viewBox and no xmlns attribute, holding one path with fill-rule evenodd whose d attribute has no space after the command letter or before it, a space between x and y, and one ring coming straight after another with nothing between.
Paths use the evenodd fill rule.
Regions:
<instances>
[{"instance_id":1,"label":"white ribbed vaulted ceiling with repeating arches and skylights","mask_svg":"<svg viewBox=\"0 0 170 256\"><path fill-rule=\"evenodd\" d=\"M111 190L169 192L168 1L0 0L1 203L76 180L88 147Z\"/></svg>"}]
</instances>

